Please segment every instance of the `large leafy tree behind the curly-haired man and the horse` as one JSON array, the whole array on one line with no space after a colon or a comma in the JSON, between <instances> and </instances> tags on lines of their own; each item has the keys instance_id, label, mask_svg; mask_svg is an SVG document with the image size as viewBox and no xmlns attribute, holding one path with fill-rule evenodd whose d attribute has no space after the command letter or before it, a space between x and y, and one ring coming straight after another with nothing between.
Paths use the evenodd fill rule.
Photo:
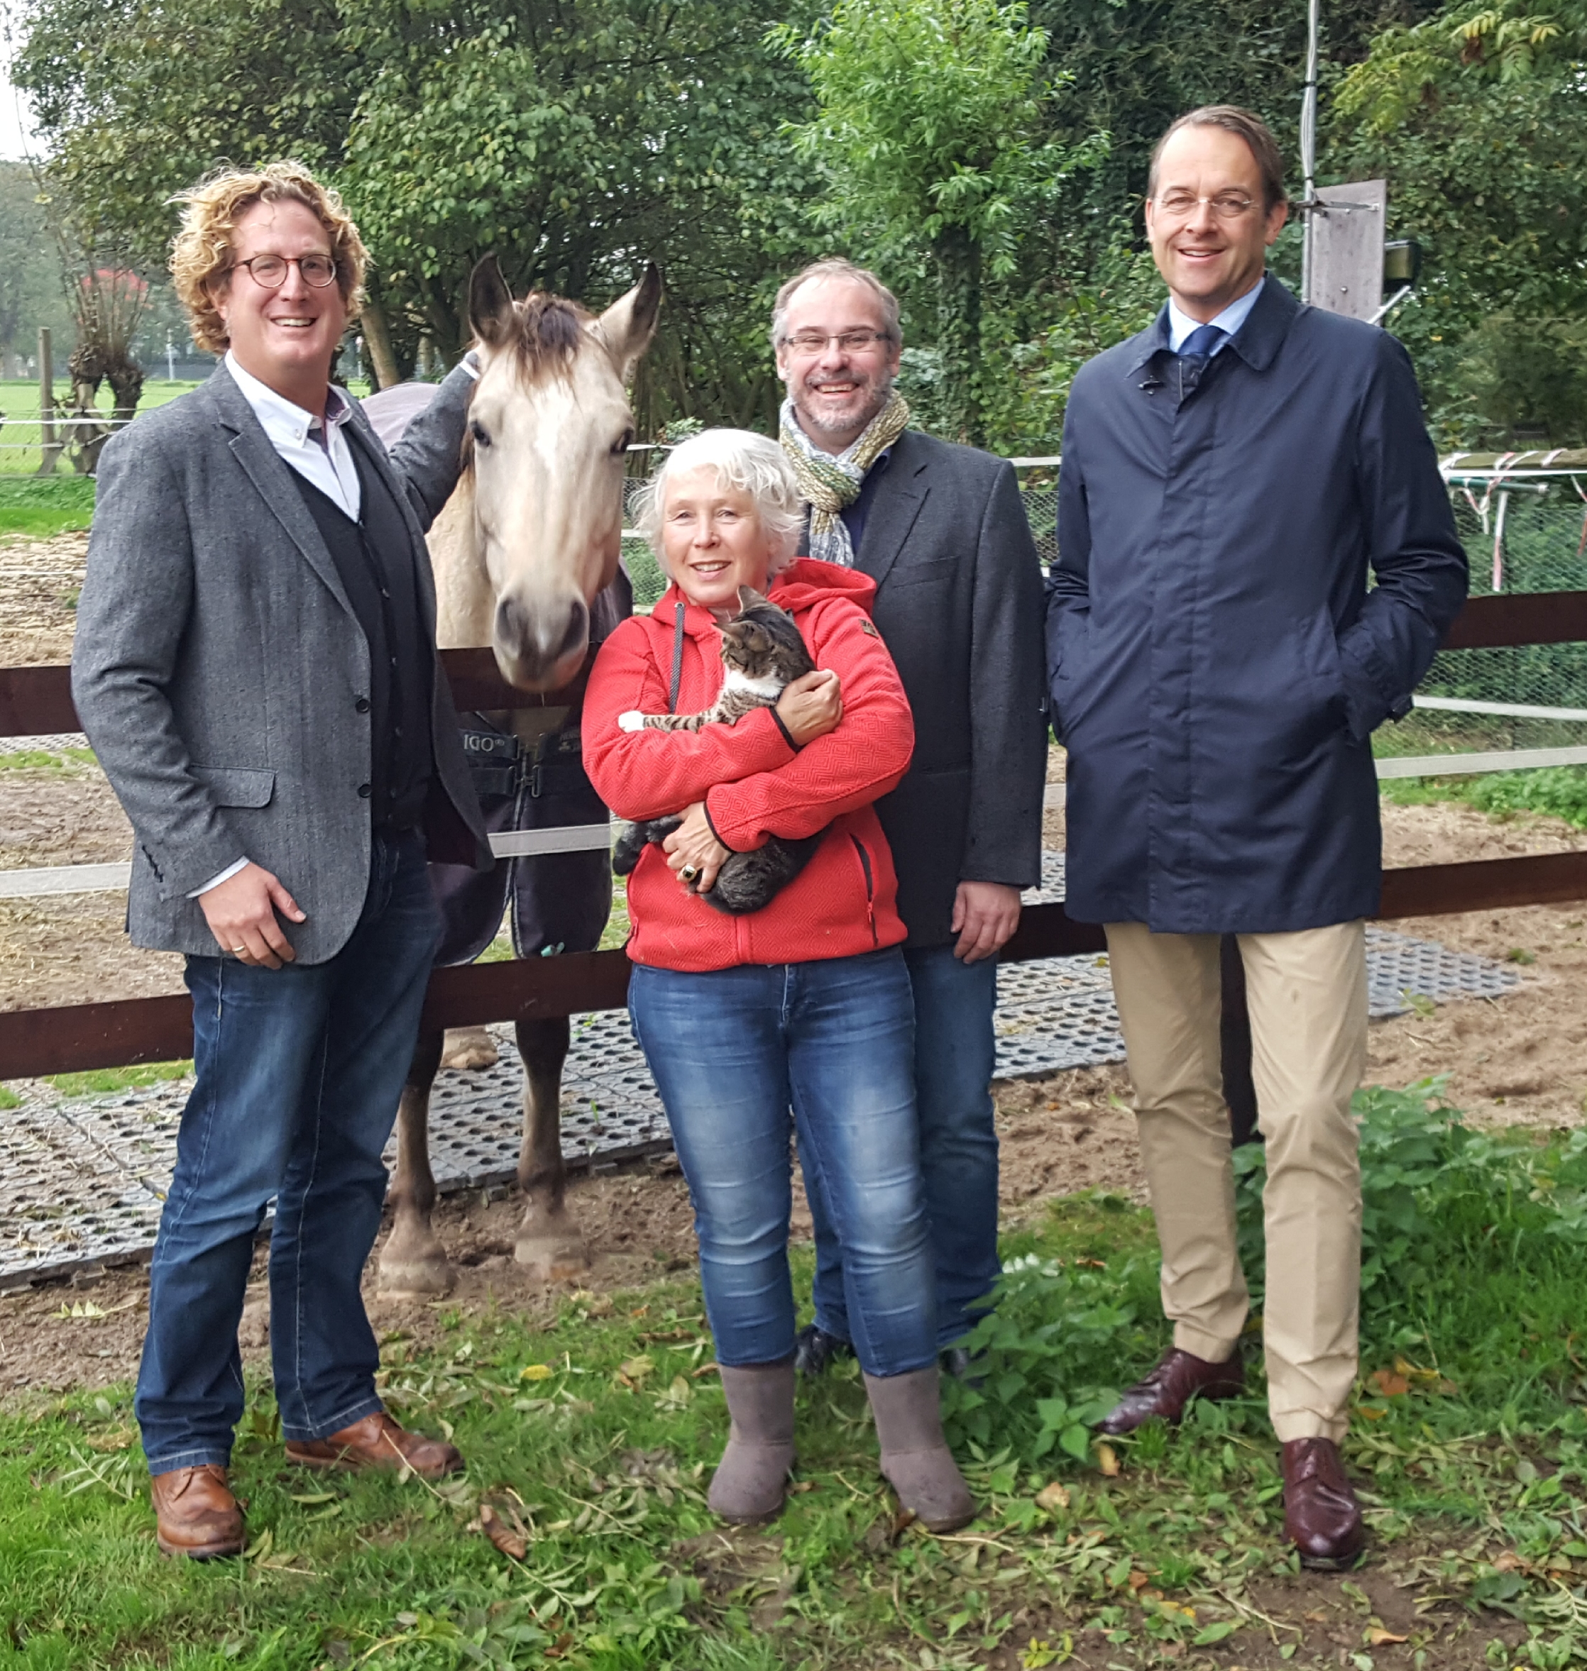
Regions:
<instances>
[{"instance_id":1,"label":"large leafy tree behind the curly-haired man and the horse","mask_svg":"<svg viewBox=\"0 0 1587 1671\"><path fill-rule=\"evenodd\" d=\"M646 428L702 401L776 409L748 297L799 249L778 125L808 104L759 0L40 0L15 70L57 189L162 256L172 190L219 160L298 155L373 254L366 338L410 373L463 346L473 262L592 306L667 276ZM768 297L769 299L769 297Z\"/></svg>"}]
</instances>

